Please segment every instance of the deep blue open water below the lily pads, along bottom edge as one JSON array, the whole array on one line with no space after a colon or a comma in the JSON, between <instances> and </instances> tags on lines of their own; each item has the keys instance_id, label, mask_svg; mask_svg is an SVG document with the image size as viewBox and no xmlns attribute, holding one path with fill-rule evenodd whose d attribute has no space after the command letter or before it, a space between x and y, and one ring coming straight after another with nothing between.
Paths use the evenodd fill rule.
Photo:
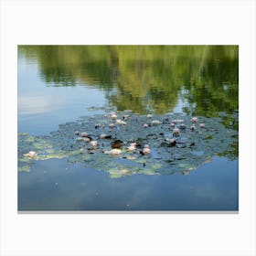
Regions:
<instances>
[{"instance_id":1,"label":"deep blue open water below the lily pads, along bottom edge","mask_svg":"<svg viewBox=\"0 0 256 256\"><path fill-rule=\"evenodd\" d=\"M221 168L219 166L221 165ZM237 210L238 166L214 158L188 176L125 176L40 161L18 174L20 210Z\"/></svg>"}]
</instances>

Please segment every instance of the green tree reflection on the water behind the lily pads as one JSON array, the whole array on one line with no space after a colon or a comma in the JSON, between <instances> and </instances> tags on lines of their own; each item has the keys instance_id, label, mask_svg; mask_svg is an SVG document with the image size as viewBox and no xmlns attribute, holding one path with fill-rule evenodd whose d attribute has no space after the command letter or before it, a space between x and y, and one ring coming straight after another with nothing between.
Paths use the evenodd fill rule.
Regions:
<instances>
[{"instance_id":1,"label":"green tree reflection on the water behind the lily pads","mask_svg":"<svg viewBox=\"0 0 256 256\"><path fill-rule=\"evenodd\" d=\"M238 46L19 46L48 86L90 85L118 111L216 116L238 110Z\"/></svg>"}]
</instances>

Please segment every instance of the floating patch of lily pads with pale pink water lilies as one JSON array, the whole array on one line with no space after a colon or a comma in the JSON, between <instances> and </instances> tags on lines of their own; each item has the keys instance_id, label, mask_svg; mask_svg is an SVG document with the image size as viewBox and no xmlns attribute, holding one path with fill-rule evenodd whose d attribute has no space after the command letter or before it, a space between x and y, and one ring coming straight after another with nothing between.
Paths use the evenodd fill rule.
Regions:
<instances>
[{"instance_id":1,"label":"floating patch of lily pads with pale pink water lilies","mask_svg":"<svg viewBox=\"0 0 256 256\"><path fill-rule=\"evenodd\" d=\"M29 171L38 160L66 158L108 172L112 178L187 175L214 155L237 156L238 131L225 127L221 115L127 112L80 117L77 122L59 124L59 130L49 135L19 133L18 170ZM238 123L238 114L231 118Z\"/></svg>"}]
</instances>

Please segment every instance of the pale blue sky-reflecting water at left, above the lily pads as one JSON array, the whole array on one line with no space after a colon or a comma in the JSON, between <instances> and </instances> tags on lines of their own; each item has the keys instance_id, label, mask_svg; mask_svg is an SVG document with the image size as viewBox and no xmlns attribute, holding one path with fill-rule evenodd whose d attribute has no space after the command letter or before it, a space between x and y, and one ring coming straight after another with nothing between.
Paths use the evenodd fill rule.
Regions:
<instances>
[{"instance_id":1,"label":"pale blue sky-reflecting water at left, above the lily pads","mask_svg":"<svg viewBox=\"0 0 256 256\"><path fill-rule=\"evenodd\" d=\"M91 106L106 104L104 92L89 85L54 87L40 80L37 62L18 59L18 132L48 134L59 123L91 115ZM97 101L95 101L97 99ZM97 113L97 112L93 112ZM101 112L98 112L101 113Z\"/></svg>"}]
</instances>

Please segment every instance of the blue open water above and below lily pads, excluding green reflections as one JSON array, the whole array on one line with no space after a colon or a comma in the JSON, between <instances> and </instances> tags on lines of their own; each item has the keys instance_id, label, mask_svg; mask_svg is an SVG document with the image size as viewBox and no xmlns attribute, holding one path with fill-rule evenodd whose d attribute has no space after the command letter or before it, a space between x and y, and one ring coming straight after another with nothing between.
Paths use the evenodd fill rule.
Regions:
<instances>
[{"instance_id":1,"label":"blue open water above and below lily pads, excluding green reflections","mask_svg":"<svg viewBox=\"0 0 256 256\"><path fill-rule=\"evenodd\" d=\"M54 87L40 79L36 61L18 59L18 132L48 134L59 123L106 106L104 91L87 84ZM181 99L175 110L182 109ZM93 112L101 113L99 112ZM189 175L133 175L112 179L66 159L37 161L19 172L19 210L238 210L238 160L213 157Z\"/></svg>"}]
</instances>

